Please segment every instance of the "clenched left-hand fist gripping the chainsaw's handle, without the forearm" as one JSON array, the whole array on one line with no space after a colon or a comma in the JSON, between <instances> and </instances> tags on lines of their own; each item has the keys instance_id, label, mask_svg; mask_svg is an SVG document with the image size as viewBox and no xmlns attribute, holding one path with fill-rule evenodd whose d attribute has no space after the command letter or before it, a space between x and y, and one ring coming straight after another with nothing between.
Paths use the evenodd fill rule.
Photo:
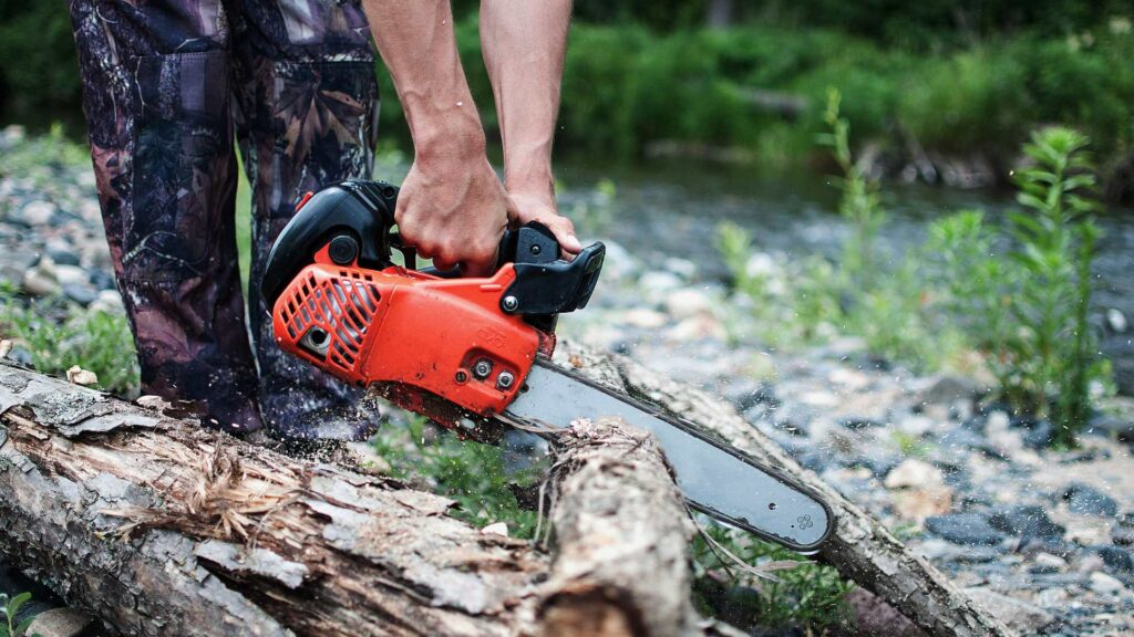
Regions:
<instances>
[{"instance_id":1,"label":"clenched left-hand fist gripping the chainsaw's handle, without the forearm","mask_svg":"<svg viewBox=\"0 0 1134 637\"><path fill-rule=\"evenodd\" d=\"M508 226L508 199L483 152L472 159L418 158L398 193L398 232L438 270L469 277L496 267Z\"/></svg>"}]
</instances>

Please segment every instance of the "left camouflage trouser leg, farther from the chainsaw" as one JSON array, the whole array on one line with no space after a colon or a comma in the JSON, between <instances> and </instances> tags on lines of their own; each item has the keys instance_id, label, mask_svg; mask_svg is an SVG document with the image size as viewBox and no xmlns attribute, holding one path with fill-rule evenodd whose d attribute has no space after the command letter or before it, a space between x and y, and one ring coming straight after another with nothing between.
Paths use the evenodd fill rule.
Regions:
<instances>
[{"instance_id":1,"label":"left camouflage trouser leg, farther from the chainsaw","mask_svg":"<svg viewBox=\"0 0 1134 637\"><path fill-rule=\"evenodd\" d=\"M237 269L236 161L220 0L71 0L107 239L142 390L254 430Z\"/></svg>"}]
</instances>

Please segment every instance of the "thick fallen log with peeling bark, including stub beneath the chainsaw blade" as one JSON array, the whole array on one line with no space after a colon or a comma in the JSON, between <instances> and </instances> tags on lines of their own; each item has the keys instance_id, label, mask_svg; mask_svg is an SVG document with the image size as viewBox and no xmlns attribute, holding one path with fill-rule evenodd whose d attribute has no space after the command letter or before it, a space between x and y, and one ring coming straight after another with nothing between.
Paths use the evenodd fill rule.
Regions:
<instances>
[{"instance_id":1,"label":"thick fallen log with peeling bark, including stub beneath the chainsaw blade","mask_svg":"<svg viewBox=\"0 0 1134 637\"><path fill-rule=\"evenodd\" d=\"M730 632L689 605L652 441L560 442L552 558L439 495L0 364L0 552L127 636Z\"/></svg>"}]
</instances>

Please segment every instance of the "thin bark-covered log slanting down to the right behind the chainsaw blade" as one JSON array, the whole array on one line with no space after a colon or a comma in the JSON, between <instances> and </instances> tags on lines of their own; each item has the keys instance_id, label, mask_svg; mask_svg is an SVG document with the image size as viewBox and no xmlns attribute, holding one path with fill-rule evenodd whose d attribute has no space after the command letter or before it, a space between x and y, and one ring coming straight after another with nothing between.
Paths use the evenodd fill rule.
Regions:
<instances>
[{"instance_id":1,"label":"thin bark-covered log slanting down to the right behind the chainsaw blade","mask_svg":"<svg viewBox=\"0 0 1134 637\"><path fill-rule=\"evenodd\" d=\"M560 341L556 360L617 391L649 400L675 416L716 433L737 449L782 468L827 500L836 528L820 558L844 577L871 591L929 635L985 637L1012 631L948 577L905 547L860 507L812 472L802 468L775 442L719 398L660 377L626 358Z\"/></svg>"}]
</instances>

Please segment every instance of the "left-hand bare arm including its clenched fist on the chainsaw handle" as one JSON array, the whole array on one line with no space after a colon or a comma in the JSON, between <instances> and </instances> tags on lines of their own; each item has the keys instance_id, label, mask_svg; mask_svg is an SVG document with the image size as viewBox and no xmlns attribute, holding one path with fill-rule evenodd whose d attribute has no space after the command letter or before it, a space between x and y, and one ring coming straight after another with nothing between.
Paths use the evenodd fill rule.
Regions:
<instances>
[{"instance_id":1,"label":"left-hand bare arm including its clenched fist on the chainsaw handle","mask_svg":"<svg viewBox=\"0 0 1134 637\"><path fill-rule=\"evenodd\" d=\"M414 139L395 213L403 237L434 264L488 274L508 223L503 187L457 56L448 0L363 0Z\"/></svg>"}]
</instances>

